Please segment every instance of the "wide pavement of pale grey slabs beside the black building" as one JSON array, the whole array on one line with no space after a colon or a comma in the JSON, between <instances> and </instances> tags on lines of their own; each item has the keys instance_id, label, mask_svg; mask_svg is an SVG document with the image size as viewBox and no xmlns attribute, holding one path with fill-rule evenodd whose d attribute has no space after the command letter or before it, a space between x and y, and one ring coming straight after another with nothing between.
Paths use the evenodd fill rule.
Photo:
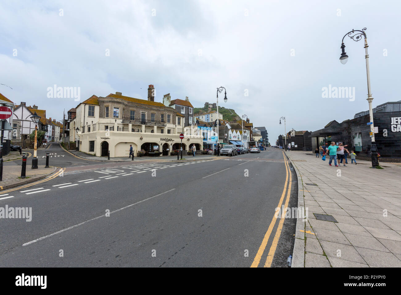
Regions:
<instances>
[{"instance_id":1,"label":"wide pavement of pale grey slabs beside the black building","mask_svg":"<svg viewBox=\"0 0 401 295\"><path fill-rule=\"evenodd\" d=\"M307 152L286 154L298 175L298 207L308 209L306 222L297 219L292 267L401 267L399 165L372 169L348 159L335 167Z\"/></svg>"}]
</instances>

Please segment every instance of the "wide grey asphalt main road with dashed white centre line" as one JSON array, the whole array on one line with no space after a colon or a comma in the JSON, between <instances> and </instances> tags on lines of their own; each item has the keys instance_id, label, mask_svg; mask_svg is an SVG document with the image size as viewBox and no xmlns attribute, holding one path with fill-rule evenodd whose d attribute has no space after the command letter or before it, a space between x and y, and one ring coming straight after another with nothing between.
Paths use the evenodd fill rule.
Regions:
<instances>
[{"instance_id":1,"label":"wide grey asphalt main road with dashed white centre line","mask_svg":"<svg viewBox=\"0 0 401 295\"><path fill-rule=\"evenodd\" d=\"M290 195L283 189L294 171L287 175L282 151L117 164L4 191L0 208L32 208L32 220L0 219L0 266L251 267L262 252L263 267L272 248L271 266L286 266L295 219L274 241L277 219L266 238L280 198ZM297 203L295 173L291 183L289 206Z\"/></svg>"}]
</instances>

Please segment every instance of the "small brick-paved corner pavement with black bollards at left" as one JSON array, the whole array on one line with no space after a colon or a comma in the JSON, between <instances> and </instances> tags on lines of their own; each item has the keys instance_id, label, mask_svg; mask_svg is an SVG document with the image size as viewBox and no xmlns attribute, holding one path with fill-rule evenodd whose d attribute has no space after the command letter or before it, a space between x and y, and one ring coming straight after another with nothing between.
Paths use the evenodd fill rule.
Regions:
<instances>
[{"instance_id":1,"label":"small brick-paved corner pavement with black bollards at left","mask_svg":"<svg viewBox=\"0 0 401 295\"><path fill-rule=\"evenodd\" d=\"M38 165L38 169L31 169L30 165L26 166L25 175L26 178L20 178L21 166L19 165L7 165L3 166L3 181L0 181L0 191L37 181L53 173L56 170L55 167L50 166L45 168L45 165Z\"/></svg>"}]
</instances>

